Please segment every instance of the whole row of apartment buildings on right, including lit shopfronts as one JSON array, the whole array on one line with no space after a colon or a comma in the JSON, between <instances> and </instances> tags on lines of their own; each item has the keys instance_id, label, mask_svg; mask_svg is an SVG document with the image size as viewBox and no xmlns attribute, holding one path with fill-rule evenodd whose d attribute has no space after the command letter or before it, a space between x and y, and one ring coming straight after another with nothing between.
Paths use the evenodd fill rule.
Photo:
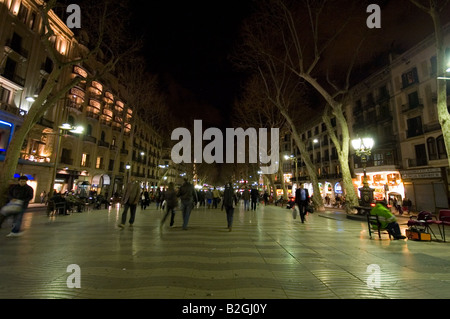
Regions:
<instances>
[{"instance_id":1,"label":"whole row of apartment buildings on right, including lit shopfronts","mask_svg":"<svg viewBox=\"0 0 450 319\"><path fill-rule=\"evenodd\" d=\"M444 27L444 35L450 61L450 25ZM350 136L375 140L366 163L375 199L407 197L417 211L436 212L449 206L448 159L436 108L436 69L435 39L430 35L408 51L391 55L385 67L350 89L346 109ZM447 88L450 96L449 82ZM300 132L316 165L322 197L335 195L340 191L339 163L325 124L318 117ZM362 186L363 163L351 152L357 190ZM329 174L337 179L330 182ZM308 181L304 164L299 166L299 175Z\"/></svg>"}]
</instances>

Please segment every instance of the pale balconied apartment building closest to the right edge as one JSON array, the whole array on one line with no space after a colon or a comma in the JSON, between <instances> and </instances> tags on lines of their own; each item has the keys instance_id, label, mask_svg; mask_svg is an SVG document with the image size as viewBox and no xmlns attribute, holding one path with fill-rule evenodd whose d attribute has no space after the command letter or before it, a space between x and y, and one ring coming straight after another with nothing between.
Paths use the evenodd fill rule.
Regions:
<instances>
[{"instance_id":1,"label":"pale balconied apartment building closest to the right edge","mask_svg":"<svg viewBox=\"0 0 450 319\"><path fill-rule=\"evenodd\" d=\"M444 27L444 41L450 61L450 25ZM448 208L448 159L436 107L442 74L436 66L433 34L390 64L405 196L417 210L432 212Z\"/></svg>"}]
</instances>

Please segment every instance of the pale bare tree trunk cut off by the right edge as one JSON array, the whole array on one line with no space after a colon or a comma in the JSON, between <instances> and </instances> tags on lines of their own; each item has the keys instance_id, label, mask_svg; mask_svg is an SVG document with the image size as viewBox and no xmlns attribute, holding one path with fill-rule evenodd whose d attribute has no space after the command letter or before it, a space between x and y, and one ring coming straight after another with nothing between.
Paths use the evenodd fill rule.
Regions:
<instances>
[{"instance_id":1,"label":"pale bare tree trunk cut off by the right edge","mask_svg":"<svg viewBox=\"0 0 450 319\"><path fill-rule=\"evenodd\" d=\"M438 1L438 0L410 0L418 8L420 8L425 13L429 14L433 20L435 41L436 41L436 61L437 61L437 74L439 76L444 75L448 67L450 66L450 61L446 61L445 58L445 45L444 45L444 34L442 30L441 14L444 8L449 4L449 0ZM424 4L424 3L428 3ZM441 124L442 134L444 136L445 148L447 150L447 155L450 150L450 114L447 107L447 83L445 79L437 80L437 109L439 123ZM450 156L448 157L448 162L450 166Z\"/></svg>"}]
</instances>

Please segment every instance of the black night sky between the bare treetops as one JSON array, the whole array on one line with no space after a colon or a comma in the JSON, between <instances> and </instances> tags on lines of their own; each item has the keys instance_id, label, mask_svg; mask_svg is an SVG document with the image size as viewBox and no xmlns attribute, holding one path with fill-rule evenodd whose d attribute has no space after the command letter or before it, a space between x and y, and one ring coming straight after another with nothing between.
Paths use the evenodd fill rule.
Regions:
<instances>
[{"instance_id":1,"label":"black night sky between the bare treetops","mask_svg":"<svg viewBox=\"0 0 450 319\"><path fill-rule=\"evenodd\" d=\"M160 75L172 106L211 125L226 125L241 79L228 54L241 21L249 15L250 1L142 3L135 6L142 9L135 12L135 21L145 35L144 56L149 71Z\"/></svg>"}]
</instances>

